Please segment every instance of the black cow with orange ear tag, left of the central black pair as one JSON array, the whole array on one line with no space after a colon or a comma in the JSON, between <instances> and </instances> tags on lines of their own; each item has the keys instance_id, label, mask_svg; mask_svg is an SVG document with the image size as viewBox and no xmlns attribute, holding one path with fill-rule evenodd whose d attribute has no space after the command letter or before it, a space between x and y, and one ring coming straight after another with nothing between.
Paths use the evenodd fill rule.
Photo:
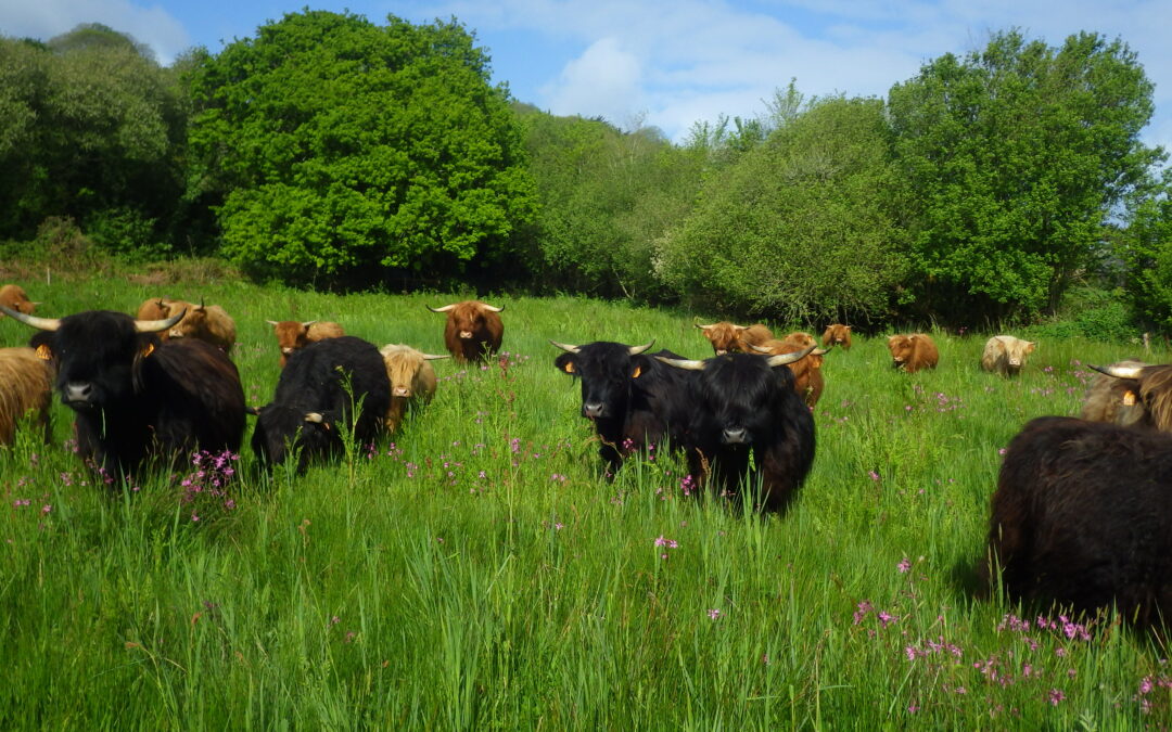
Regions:
<instances>
[{"instance_id":1,"label":"black cow with orange ear tag, left of the central black pair","mask_svg":"<svg viewBox=\"0 0 1172 732\"><path fill-rule=\"evenodd\" d=\"M679 447L687 422L686 394L691 375L668 368L647 355L646 346L624 346L599 341L570 346L550 341L566 351L554 358L559 370L581 379L581 415L594 423L602 446L599 454L607 472L648 445L661 445L665 437ZM679 358L669 350L654 356Z\"/></svg>"}]
</instances>

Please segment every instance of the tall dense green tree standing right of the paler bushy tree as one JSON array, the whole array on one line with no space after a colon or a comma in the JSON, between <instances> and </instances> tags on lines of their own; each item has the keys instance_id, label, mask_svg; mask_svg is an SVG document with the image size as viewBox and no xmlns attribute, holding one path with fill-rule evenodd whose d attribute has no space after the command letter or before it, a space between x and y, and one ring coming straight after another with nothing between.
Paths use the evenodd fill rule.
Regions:
<instances>
[{"instance_id":1,"label":"tall dense green tree standing right of the paler bushy tree","mask_svg":"<svg viewBox=\"0 0 1172 732\"><path fill-rule=\"evenodd\" d=\"M1139 142L1152 84L1122 41L994 35L890 94L914 201L917 305L946 319L1052 310L1159 152Z\"/></svg>"}]
</instances>

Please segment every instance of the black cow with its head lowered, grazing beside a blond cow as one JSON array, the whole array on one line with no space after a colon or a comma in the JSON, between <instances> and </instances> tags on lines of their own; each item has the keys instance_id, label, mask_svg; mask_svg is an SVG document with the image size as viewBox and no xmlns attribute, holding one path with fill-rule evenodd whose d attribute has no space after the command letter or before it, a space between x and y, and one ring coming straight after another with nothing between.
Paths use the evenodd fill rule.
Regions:
<instances>
[{"instance_id":1,"label":"black cow with its head lowered, grazing beside a blond cow","mask_svg":"<svg viewBox=\"0 0 1172 732\"><path fill-rule=\"evenodd\" d=\"M300 451L300 472L311 459L341 452L341 431L359 445L374 442L389 406L390 381L377 347L349 335L318 341L289 356L273 401L258 411L252 450L265 467Z\"/></svg>"}]
</instances>

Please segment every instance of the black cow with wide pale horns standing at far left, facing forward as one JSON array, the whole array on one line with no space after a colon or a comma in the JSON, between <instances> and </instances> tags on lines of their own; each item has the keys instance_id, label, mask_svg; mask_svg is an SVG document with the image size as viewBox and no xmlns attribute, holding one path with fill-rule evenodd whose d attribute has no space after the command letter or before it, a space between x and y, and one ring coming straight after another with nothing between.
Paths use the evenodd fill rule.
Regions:
<instances>
[{"instance_id":1,"label":"black cow with wide pale horns standing at far left, facing forward","mask_svg":"<svg viewBox=\"0 0 1172 732\"><path fill-rule=\"evenodd\" d=\"M244 389L236 365L200 341L159 341L183 313L157 321L89 310L60 320L5 313L42 333L38 353L56 370L56 390L74 410L82 458L109 473L145 460L177 465L195 450L237 451Z\"/></svg>"}]
</instances>

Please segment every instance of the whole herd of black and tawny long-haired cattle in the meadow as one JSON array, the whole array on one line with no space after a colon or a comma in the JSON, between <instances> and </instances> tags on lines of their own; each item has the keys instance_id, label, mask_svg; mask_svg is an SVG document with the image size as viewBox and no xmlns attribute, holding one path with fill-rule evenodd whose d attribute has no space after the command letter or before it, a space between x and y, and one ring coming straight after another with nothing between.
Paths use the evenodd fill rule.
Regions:
<instances>
[{"instance_id":1,"label":"whole herd of black and tawny long-haired cattle in the meadow","mask_svg":"<svg viewBox=\"0 0 1172 732\"><path fill-rule=\"evenodd\" d=\"M258 463L297 456L304 470L347 438L361 445L397 430L436 389L431 360L491 358L504 334L502 308L479 301L429 308L447 315L444 356L379 349L338 323L268 321L281 374L273 399L250 409L229 356L236 326L218 306L151 299L134 317L47 319L32 315L35 305L18 286L0 288L0 313L38 330L29 348L0 349L0 444L29 412L48 438L55 388L74 411L79 452L108 473L236 451L250 413ZM554 365L580 381L608 478L632 453L666 445L686 456L696 490L782 513L813 464L823 358L851 348L851 329L830 326L819 348L809 334L775 338L759 324L697 327L714 350L703 361L650 353L654 342L551 341L564 351ZM1034 348L994 336L981 368L1013 376ZM925 334L891 336L888 349L907 372L939 363ZM1098 370L1081 418L1034 419L1007 449L979 573L1016 598L1082 611L1113 602L1150 623L1172 611L1172 365Z\"/></svg>"}]
</instances>

